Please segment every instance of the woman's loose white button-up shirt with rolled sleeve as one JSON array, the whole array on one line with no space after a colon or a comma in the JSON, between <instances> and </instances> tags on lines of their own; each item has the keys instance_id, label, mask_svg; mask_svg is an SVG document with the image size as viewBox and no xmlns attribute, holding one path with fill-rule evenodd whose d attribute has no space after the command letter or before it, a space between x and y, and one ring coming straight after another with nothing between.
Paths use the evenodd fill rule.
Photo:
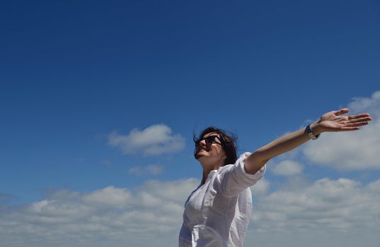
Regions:
<instances>
[{"instance_id":1,"label":"woman's loose white button-up shirt with rolled sleeve","mask_svg":"<svg viewBox=\"0 0 380 247\"><path fill-rule=\"evenodd\" d=\"M210 171L185 203L179 247L241 247L252 212L253 186L265 174L247 174L241 155L235 164Z\"/></svg>"}]
</instances>

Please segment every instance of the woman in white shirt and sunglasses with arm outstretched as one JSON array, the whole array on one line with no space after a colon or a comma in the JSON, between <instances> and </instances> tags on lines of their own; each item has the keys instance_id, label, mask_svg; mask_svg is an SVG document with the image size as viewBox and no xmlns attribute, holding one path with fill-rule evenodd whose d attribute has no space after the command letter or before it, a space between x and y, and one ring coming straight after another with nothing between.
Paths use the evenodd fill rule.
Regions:
<instances>
[{"instance_id":1,"label":"woman in white shirt and sunglasses with arm outstretched","mask_svg":"<svg viewBox=\"0 0 380 247\"><path fill-rule=\"evenodd\" d=\"M371 121L369 114L328 112L299 131L284 135L252 153L236 157L235 139L218 128L206 128L195 140L195 158L203 168L200 186L185 203L179 246L243 246L252 211L250 186L265 173L268 160L316 140L323 132L356 131Z\"/></svg>"}]
</instances>

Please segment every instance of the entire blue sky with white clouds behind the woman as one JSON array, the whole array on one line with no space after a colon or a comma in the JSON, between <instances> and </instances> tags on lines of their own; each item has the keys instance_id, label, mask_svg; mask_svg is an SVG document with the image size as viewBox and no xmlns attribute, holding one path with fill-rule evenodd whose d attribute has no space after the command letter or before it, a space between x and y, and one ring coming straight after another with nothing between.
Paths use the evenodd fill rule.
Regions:
<instances>
[{"instance_id":1,"label":"entire blue sky with white clouds behind the woman","mask_svg":"<svg viewBox=\"0 0 380 247\"><path fill-rule=\"evenodd\" d=\"M272 159L244 246L379 246L379 1L10 1L0 18L1 246L177 246L193 132L252 152L340 107L374 120Z\"/></svg>"}]
</instances>

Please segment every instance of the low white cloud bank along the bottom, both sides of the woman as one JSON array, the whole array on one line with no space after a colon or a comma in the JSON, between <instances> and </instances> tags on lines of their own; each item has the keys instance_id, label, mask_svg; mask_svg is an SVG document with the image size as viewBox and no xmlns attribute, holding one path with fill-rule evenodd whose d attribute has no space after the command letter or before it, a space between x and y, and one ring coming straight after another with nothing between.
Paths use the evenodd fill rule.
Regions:
<instances>
[{"instance_id":1,"label":"low white cloud bank along the bottom, both sides of the woman","mask_svg":"<svg viewBox=\"0 0 380 247\"><path fill-rule=\"evenodd\" d=\"M131 189L56 191L1 214L1 243L7 247L178 246L183 204L199 183L151 180ZM244 246L318 246L321 241L326 246L360 242L378 246L380 180L362 186L351 179L320 179L271 193L269 183L262 180L253 186L255 209Z\"/></svg>"}]
</instances>

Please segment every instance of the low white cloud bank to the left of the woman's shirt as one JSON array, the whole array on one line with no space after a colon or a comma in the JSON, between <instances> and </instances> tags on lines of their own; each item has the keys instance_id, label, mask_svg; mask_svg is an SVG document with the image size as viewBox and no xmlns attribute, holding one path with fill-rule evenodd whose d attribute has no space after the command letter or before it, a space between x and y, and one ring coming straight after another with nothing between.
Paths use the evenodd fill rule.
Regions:
<instances>
[{"instance_id":1,"label":"low white cloud bank to the left of the woman's shirt","mask_svg":"<svg viewBox=\"0 0 380 247\"><path fill-rule=\"evenodd\" d=\"M176 246L196 179L57 191L0 214L1 246ZM1 208L0 208L1 209Z\"/></svg>"}]
</instances>

